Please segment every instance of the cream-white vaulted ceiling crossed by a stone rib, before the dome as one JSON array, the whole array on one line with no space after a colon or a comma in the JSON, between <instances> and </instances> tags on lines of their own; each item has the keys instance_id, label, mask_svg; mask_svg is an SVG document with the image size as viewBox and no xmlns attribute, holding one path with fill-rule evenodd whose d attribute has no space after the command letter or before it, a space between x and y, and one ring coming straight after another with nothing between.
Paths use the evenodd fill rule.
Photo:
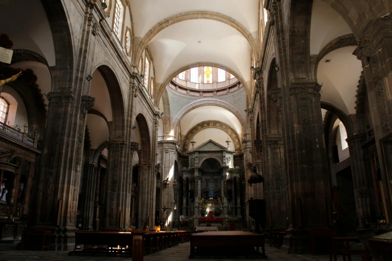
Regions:
<instances>
[{"instance_id":1,"label":"cream-white vaulted ceiling crossed by a stone rib, before the dome","mask_svg":"<svg viewBox=\"0 0 392 261\"><path fill-rule=\"evenodd\" d=\"M156 83L165 83L186 65L211 62L249 84L259 4L259 0L130 0L134 37L148 41ZM157 29L162 23L165 26Z\"/></svg>"}]
</instances>

